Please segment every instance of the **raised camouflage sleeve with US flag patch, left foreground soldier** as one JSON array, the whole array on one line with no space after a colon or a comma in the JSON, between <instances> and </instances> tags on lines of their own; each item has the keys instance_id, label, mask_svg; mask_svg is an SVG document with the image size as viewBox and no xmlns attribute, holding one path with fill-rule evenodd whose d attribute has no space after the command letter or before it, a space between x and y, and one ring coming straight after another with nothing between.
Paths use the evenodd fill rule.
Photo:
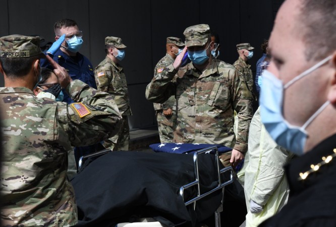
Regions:
<instances>
[{"instance_id":1,"label":"raised camouflage sleeve with US flag patch, left foreground soldier","mask_svg":"<svg viewBox=\"0 0 336 227\"><path fill-rule=\"evenodd\" d=\"M72 81L66 91L75 102L58 103L56 115L72 146L94 144L119 132L122 117L108 93L99 92L80 80Z\"/></svg>"}]
</instances>

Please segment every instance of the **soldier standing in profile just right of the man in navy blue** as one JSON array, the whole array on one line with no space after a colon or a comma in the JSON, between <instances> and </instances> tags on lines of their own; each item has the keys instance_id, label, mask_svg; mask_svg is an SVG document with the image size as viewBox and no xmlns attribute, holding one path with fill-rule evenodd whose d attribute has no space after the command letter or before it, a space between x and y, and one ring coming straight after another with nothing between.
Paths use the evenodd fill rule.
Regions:
<instances>
[{"instance_id":1,"label":"soldier standing in profile just right of the man in navy blue","mask_svg":"<svg viewBox=\"0 0 336 227\"><path fill-rule=\"evenodd\" d=\"M128 116L132 115L127 81L123 67L119 64L124 59L126 46L119 37L105 38L106 58L94 69L94 77L99 91L114 97L123 116L123 126L118 135L104 141L104 147L111 150L128 150L130 127Z\"/></svg>"}]
</instances>

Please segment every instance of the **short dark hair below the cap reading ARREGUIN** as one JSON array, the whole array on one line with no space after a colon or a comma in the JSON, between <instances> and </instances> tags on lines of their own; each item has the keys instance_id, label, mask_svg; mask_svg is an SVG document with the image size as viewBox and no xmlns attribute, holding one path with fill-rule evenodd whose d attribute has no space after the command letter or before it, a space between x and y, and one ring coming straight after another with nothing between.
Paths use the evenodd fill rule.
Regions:
<instances>
[{"instance_id":1,"label":"short dark hair below the cap reading ARREGUIN","mask_svg":"<svg viewBox=\"0 0 336 227\"><path fill-rule=\"evenodd\" d=\"M34 61L38 59L39 56L31 56L29 58L0 58L0 63L6 76L13 79L27 75Z\"/></svg>"}]
</instances>

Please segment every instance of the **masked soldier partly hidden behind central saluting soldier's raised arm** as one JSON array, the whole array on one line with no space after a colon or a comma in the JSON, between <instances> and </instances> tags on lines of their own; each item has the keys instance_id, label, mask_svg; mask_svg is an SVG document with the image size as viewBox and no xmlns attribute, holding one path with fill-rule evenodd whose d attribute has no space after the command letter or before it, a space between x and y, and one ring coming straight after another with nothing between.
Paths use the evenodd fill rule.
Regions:
<instances>
[{"instance_id":1,"label":"masked soldier partly hidden behind central saluting soldier's raised arm","mask_svg":"<svg viewBox=\"0 0 336 227\"><path fill-rule=\"evenodd\" d=\"M156 64L154 77L158 73L161 73L165 67L174 63L176 56L180 54L183 47L184 43L180 38L166 38L166 53L165 56ZM174 78L173 81L175 82L176 78ZM172 143L177 119L175 95L172 95L163 103L154 103L154 110L161 143Z\"/></svg>"}]
</instances>

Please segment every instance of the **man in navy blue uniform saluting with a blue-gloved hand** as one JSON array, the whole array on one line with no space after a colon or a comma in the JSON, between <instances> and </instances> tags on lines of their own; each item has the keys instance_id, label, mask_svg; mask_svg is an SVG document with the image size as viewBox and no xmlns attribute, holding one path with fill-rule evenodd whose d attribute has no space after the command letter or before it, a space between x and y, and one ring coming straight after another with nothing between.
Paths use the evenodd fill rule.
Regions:
<instances>
[{"instance_id":1,"label":"man in navy blue uniform saluting with a blue-gloved hand","mask_svg":"<svg viewBox=\"0 0 336 227\"><path fill-rule=\"evenodd\" d=\"M60 38L62 40L64 38L64 41L59 45L52 45L47 50L47 53L52 55L53 60L67 70L71 79L79 79L90 87L97 89L94 68L86 56L79 52L83 45L83 31L79 30L76 21L62 19L56 22L53 27L56 42ZM41 61L41 67L49 67L48 61ZM66 92L64 92L63 101L67 103L74 102ZM80 156L102 149L104 147L100 143L85 147L75 147L76 164L78 165Z\"/></svg>"}]
</instances>

